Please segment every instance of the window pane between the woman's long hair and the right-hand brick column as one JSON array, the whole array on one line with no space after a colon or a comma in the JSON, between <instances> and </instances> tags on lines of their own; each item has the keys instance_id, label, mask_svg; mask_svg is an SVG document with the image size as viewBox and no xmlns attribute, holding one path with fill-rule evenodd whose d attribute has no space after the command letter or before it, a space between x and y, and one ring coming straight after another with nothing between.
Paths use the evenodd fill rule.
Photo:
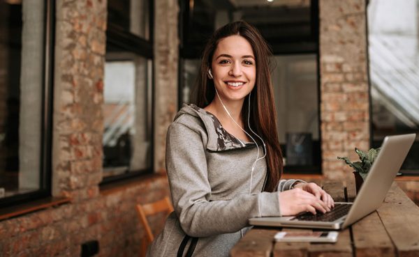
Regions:
<instances>
[{"instance_id":1,"label":"window pane between the woman's long hair and the right-hand brick column","mask_svg":"<svg viewBox=\"0 0 419 257\"><path fill-rule=\"evenodd\" d=\"M320 171L316 54L276 55L272 74L285 171Z\"/></svg>"}]
</instances>

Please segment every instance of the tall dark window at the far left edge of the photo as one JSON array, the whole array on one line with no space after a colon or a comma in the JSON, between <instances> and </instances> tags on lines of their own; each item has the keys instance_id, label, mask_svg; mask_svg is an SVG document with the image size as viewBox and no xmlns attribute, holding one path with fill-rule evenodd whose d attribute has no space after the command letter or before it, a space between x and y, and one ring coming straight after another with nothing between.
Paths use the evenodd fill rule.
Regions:
<instances>
[{"instance_id":1,"label":"tall dark window at the far left edge of the photo","mask_svg":"<svg viewBox=\"0 0 419 257\"><path fill-rule=\"evenodd\" d=\"M0 1L0 206L50 194L50 1Z\"/></svg>"}]
</instances>

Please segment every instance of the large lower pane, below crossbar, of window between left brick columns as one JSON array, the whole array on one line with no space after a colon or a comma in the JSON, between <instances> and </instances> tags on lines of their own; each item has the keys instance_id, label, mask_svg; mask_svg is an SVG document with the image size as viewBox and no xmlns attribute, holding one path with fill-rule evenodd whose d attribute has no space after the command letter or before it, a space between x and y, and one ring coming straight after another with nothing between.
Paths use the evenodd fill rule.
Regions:
<instances>
[{"instance_id":1,"label":"large lower pane, below crossbar, of window between left brick columns","mask_svg":"<svg viewBox=\"0 0 419 257\"><path fill-rule=\"evenodd\" d=\"M107 54L103 104L104 177L151 167L150 63L129 52Z\"/></svg>"}]
</instances>

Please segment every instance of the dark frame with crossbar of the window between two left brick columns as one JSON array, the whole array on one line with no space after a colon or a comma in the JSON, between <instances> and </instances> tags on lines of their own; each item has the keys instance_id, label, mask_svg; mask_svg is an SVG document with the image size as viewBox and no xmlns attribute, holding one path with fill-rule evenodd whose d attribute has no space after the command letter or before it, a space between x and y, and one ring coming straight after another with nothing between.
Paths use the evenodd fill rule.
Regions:
<instances>
[{"instance_id":1,"label":"dark frame with crossbar of the window between two left brick columns","mask_svg":"<svg viewBox=\"0 0 419 257\"><path fill-rule=\"evenodd\" d=\"M142 56L147 60L147 132L150 140L151 164L147 169L129 170L127 173L104 177L99 186L108 185L121 180L129 180L154 172L154 1L148 1L149 35L148 40L130 31L126 31L115 24L109 24L106 29L106 45L121 47L127 52ZM102 165L103 168L103 165Z\"/></svg>"}]
</instances>

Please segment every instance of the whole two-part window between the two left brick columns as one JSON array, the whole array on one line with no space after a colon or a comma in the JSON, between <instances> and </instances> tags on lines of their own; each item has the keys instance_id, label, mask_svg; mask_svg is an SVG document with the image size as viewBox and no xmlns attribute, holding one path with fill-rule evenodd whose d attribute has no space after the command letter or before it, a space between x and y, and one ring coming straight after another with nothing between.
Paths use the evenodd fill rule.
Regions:
<instances>
[{"instance_id":1,"label":"whole two-part window between the two left brick columns","mask_svg":"<svg viewBox=\"0 0 419 257\"><path fill-rule=\"evenodd\" d=\"M108 1L103 182L152 171L150 14L152 1Z\"/></svg>"}]
</instances>

